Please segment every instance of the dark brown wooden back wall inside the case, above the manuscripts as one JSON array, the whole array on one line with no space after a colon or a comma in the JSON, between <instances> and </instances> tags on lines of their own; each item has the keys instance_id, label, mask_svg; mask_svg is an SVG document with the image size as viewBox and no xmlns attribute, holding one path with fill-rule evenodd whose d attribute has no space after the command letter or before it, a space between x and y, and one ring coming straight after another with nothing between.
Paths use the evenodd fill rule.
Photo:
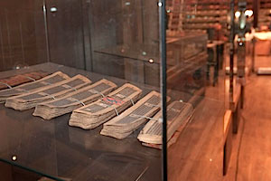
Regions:
<instances>
[{"instance_id":1,"label":"dark brown wooden back wall inside the case, above the manuscripts","mask_svg":"<svg viewBox=\"0 0 271 181\"><path fill-rule=\"evenodd\" d=\"M48 50L43 3L47 10ZM0 2L0 71L12 69L16 64L50 61L107 74L107 70L100 71L105 69L105 62L123 61L109 56L105 59L95 51L123 43L155 43L158 48L156 3L155 0L134 0L130 5L119 0ZM57 11L51 12L51 7Z\"/></svg>"}]
</instances>

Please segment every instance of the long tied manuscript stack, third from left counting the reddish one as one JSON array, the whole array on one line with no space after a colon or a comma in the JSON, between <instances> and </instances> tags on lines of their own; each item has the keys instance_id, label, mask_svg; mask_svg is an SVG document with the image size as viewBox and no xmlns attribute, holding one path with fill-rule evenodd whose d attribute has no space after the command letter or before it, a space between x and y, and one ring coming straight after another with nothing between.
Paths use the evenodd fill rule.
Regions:
<instances>
[{"instance_id":1,"label":"long tied manuscript stack, third from left counting the reddish one","mask_svg":"<svg viewBox=\"0 0 271 181\"><path fill-rule=\"evenodd\" d=\"M39 90L9 98L5 101L5 107L13 108L14 110L30 110L38 103L56 100L65 94L79 90L90 83L91 81L86 77L77 75L66 81L54 83Z\"/></svg>"}]
</instances>

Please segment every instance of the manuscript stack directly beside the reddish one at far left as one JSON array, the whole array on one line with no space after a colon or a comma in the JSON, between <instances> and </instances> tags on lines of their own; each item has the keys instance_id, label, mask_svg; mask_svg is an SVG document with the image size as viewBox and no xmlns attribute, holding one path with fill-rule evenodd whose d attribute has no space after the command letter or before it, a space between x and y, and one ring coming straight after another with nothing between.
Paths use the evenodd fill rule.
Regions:
<instances>
[{"instance_id":1,"label":"manuscript stack directly beside the reddish one at far left","mask_svg":"<svg viewBox=\"0 0 271 181\"><path fill-rule=\"evenodd\" d=\"M23 93L29 93L33 90L38 90L50 86L53 83L58 83L60 81L65 81L70 79L70 77L61 71L57 71L49 76L42 78L39 81L33 81L30 83L25 83L20 86L16 86L8 90L0 90L0 101L4 101L10 97L22 95Z\"/></svg>"}]
</instances>

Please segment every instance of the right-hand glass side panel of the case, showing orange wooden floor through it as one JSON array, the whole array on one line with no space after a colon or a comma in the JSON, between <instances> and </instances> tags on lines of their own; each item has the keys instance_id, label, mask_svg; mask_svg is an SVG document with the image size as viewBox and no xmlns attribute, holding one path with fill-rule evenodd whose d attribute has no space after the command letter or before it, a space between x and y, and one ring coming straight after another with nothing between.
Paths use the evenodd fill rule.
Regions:
<instances>
[{"instance_id":1,"label":"right-hand glass side panel of the case, showing orange wooden floor through it","mask_svg":"<svg viewBox=\"0 0 271 181\"><path fill-rule=\"evenodd\" d=\"M166 12L167 176L220 180L229 4L172 0Z\"/></svg>"}]
</instances>

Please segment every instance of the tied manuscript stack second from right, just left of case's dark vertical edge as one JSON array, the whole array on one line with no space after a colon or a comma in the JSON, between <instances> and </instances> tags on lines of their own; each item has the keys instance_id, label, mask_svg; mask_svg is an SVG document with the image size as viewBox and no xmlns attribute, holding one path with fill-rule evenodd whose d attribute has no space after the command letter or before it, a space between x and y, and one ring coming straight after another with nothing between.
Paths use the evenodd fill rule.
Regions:
<instances>
[{"instance_id":1,"label":"tied manuscript stack second from right, just left of case's dark vertical edge","mask_svg":"<svg viewBox=\"0 0 271 181\"><path fill-rule=\"evenodd\" d=\"M113 138L126 138L160 110L160 93L152 91L134 106L104 124L100 134Z\"/></svg>"}]
</instances>

